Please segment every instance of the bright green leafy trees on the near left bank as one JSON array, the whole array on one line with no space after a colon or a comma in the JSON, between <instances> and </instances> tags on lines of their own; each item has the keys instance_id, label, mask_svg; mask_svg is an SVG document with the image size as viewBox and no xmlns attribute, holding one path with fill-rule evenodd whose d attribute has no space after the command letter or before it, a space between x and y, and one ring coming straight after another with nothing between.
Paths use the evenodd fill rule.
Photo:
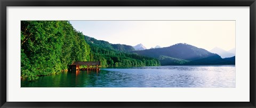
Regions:
<instances>
[{"instance_id":1,"label":"bright green leafy trees on the near left bank","mask_svg":"<svg viewBox=\"0 0 256 108\"><path fill-rule=\"evenodd\" d=\"M73 61L89 61L84 35L67 21L21 21L21 77L35 80L67 69Z\"/></svg>"}]
</instances>

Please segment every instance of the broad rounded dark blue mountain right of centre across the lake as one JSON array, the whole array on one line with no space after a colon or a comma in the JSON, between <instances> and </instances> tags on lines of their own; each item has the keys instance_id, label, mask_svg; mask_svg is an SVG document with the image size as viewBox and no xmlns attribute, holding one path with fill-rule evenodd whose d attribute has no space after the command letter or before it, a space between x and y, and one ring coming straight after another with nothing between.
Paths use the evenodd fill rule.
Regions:
<instances>
[{"instance_id":1,"label":"broad rounded dark blue mountain right of centre across the lake","mask_svg":"<svg viewBox=\"0 0 256 108\"><path fill-rule=\"evenodd\" d=\"M161 65L233 65L235 61L222 59L216 53L186 43L170 47L133 51L138 55L157 58Z\"/></svg>"}]
</instances>

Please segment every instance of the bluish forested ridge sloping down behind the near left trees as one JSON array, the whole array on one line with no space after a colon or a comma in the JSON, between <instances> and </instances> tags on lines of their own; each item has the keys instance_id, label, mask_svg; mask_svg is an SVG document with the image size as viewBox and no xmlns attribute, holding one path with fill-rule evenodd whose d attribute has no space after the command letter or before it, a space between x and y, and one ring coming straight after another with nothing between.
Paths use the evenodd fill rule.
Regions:
<instances>
[{"instance_id":1,"label":"bluish forested ridge sloping down behind the near left trees","mask_svg":"<svg viewBox=\"0 0 256 108\"><path fill-rule=\"evenodd\" d=\"M93 44L94 46L98 46L101 48L117 50L117 51L122 51L122 52L135 51L135 49L132 46L127 46L126 44L112 44L107 41L97 40L95 38L88 37L87 35L84 36L84 39L88 44Z\"/></svg>"}]
</instances>

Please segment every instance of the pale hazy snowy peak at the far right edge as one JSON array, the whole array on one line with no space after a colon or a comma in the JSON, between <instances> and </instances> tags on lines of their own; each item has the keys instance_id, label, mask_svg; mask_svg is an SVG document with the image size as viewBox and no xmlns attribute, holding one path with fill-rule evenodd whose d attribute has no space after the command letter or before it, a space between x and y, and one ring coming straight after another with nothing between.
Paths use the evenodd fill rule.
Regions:
<instances>
[{"instance_id":1,"label":"pale hazy snowy peak at the far right edge","mask_svg":"<svg viewBox=\"0 0 256 108\"><path fill-rule=\"evenodd\" d=\"M229 51L223 50L218 47L213 48L210 52L217 53L218 55L220 55L221 58L228 58L228 57L235 56L234 53L230 53Z\"/></svg>"}]
</instances>

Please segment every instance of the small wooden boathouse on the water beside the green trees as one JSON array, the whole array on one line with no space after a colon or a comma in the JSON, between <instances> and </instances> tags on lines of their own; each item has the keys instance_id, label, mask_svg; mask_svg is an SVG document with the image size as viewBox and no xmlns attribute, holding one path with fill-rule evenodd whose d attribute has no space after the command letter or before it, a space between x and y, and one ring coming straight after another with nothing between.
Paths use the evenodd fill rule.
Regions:
<instances>
[{"instance_id":1,"label":"small wooden boathouse on the water beside the green trees","mask_svg":"<svg viewBox=\"0 0 256 108\"><path fill-rule=\"evenodd\" d=\"M80 68L81 65L86 65L87 68ZM100 61L73 61L73 63L69 65L69 70L100 70L99 66Z\"/></svg>"}]
</instances>

